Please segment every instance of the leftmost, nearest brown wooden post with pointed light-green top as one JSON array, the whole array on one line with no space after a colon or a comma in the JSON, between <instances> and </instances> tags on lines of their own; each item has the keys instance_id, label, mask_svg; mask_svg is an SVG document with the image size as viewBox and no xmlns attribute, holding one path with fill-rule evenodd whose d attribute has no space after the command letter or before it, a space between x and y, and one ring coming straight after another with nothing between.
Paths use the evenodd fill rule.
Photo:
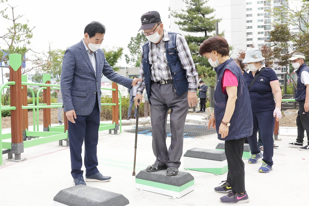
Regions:
<instances>
[{"instance_id":1,"label":"leftmost, nearest brown wooden post with pointed light-green top","mask_svg":"<svg viewBox=\"0 0 309 206\"><path fill-rule=\"evenodd\" d=\"M11 152L15 154L12 161L20 161L23 153L21 58L20 54L9 54L10 81L15 81L15 85L10 85L11 106L16 107L11 110Z\"/></svg>"}]
</instances>

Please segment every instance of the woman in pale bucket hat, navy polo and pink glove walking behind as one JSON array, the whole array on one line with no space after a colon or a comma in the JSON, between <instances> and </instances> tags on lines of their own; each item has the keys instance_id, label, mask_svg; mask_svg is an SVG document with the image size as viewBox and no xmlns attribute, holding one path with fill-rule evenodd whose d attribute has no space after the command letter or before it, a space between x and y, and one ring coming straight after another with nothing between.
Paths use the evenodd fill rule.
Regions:
<instances>
[{"instance_id":1,"label":"woman in pale bucket hat, navy polo and pink glove walking behind","mask_svg":"<svg viewBox=\"0 0 309 206\"><path fill-rule=\"evenodd\" d=\"M248 86L253 114L253 132L248 137L251 148L251 158L248 162L255 164L264 155L259 172L268 173L273 170L273 128L275 119L279 121L281 118L282 96L279 79L275 71L265 67L265 58L262 57L260 49L247 50L243 63L246 63L248 67L244 78ZM275 101L273 97L275 97ZM264 154L262 154L257 144L256 134L259 128L264 144Z\"/></svg>"}]
</instances>

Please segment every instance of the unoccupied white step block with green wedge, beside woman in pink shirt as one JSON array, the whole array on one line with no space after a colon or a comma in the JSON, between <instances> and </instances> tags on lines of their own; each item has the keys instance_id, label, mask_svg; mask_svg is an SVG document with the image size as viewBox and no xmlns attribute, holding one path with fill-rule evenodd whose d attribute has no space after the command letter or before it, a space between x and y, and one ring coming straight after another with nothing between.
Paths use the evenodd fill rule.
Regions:
<instances>
[{"instance_id":1,"label":"unoccupied white step block with green wedge, beside woman in pink shirt","mask_svg":"<svg viewBox=\"0 0 309 206\"><path fill-rule=\"evenodd\" d=\"M184 154L184 168L213 174L227 172L227 161L224 151L204 148L192 148Z\"/></svg>"}]
</instances>

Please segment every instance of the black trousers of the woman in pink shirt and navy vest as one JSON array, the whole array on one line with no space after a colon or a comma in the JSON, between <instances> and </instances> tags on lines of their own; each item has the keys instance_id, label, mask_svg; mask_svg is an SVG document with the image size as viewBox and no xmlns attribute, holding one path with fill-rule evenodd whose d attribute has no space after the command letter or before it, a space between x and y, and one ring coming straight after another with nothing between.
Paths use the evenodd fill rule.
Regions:
<instances>
[{"instance_id":1,"label":"black trousers of the woman in pink shirt and navy vest","mask_svg":"<svg viewBox=\"0 0 309 206\"><path fill-rule=\"evenodd\" d=\"M243 163L243 144L245 138L225 141L227 161L227 179L232 190L237 193L245 192L245 164Z\"/></svg>"}]
</instances>

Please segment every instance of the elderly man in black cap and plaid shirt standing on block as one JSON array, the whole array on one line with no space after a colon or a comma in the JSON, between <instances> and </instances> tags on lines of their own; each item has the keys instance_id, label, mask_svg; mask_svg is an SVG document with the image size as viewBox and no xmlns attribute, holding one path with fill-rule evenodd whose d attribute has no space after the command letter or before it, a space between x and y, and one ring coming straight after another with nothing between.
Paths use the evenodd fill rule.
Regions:
<instances>
[{"instance_id":1,"label":"elderly man in black cap and plaid shirt standing on block","mask_svg":"<svg viewBox=\"0 0 309 206\"><path fill-rule=\"evenodd\" d=\"M148 172L167 169L167 175L178 174L183 150L184 122L188 106L197 104L197 70L183 36L163 29L160 15L150 11L141 17L143 46L140 78L135 104L142 100L146 87L151 111L152 149L156 157ZM171 145L166 146L166 122L171 109Z\"/></svg>"}]
</instances>

